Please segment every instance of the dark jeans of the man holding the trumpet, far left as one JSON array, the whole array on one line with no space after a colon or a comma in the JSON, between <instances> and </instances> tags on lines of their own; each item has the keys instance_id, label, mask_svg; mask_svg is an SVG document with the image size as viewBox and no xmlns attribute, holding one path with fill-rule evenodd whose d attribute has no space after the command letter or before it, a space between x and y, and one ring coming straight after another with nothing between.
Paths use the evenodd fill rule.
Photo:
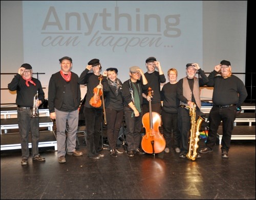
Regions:
<instances>
[{"instance_id":1,"label":"dark jeans of the man holding the trumpet, far left","mask_svg":"<svg viewBox=\"0 0 256 200\"><path fill-rule=\"evenodd\" d=\"M39 117L30 117L31 110L17 108L18 128L20 134L20 144L22 146L22 158L29 158L29 131L32 138L32 158L38 154L39 142Z\"/></svg>"}]
</instances>

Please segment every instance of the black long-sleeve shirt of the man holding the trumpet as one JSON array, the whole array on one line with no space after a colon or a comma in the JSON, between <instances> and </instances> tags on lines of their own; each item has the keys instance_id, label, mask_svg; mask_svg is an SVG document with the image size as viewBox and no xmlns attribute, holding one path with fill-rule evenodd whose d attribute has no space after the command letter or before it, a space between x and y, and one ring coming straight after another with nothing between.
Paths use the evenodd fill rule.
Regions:
<instances>
[{"instance_id":1,"label":"black long-sleeve shirt of the man holding the trumpet","mask_svg":"<svg viewBox=\"0 0 256 200\"><path fill-rule=\"evenodd\" d=\"M30 82L29 87L26 85L26 81L20 76L20 74L16 74L12 79L11 83L8 84L8 89L11 91L17 90L16 96L16 105L22 107L33 107L34 106L34 96L38 91L38 99L41 102L45 101L45 92L42 90L41 83L38 79L32 77L31 79L36 85L34 86Z\"/></svg>"}]
</instances>

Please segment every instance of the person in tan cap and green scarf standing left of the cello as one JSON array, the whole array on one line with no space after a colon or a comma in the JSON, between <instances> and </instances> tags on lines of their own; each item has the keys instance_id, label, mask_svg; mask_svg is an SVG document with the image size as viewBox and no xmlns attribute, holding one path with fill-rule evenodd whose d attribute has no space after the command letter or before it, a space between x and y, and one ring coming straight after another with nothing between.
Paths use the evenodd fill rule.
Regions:
<instances>
[{"instance_id":1,"label":"person in tan cap and green scarf standing left of the cello","mask_svg":"<svg viewBox=\"0 0 256 200\"><path fill-rule=\"evenodd\" d=\"M142 78L142 80L141 80ZM145 154L140 148L142 129L142 91L148 88L146 77L138 66L130 67L130 79L123 83L123 105L126 123L127 156Z\"/></svg>"}]
</instances>

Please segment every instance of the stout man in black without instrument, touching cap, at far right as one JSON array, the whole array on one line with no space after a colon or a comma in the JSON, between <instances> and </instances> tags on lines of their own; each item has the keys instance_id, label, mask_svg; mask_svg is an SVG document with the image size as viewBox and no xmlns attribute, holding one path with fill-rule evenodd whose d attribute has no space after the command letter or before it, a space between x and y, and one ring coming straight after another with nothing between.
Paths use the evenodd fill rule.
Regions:
<instances>
[{"instance_id":1,"label":"stout man in black without instrument, touching cap, at far right","mask_svg":"<svg viewBox=\"0 0 256 200\"><path fill-rule=\"evenodd\" d=\"M221 72L221 76L216 76L218 72ZM202 154L212 152L222 121L221 156L228 158L234 119L236 119L237 112L241 112L241 105L247 97L247 91L244 83L232 74L231 64L227 60L222 60L219 65L216 65L208 79L207 86L214 87L212 95L214 105L209 113L207 141L205 147L201 148L199 152Z\"/></svg>"}]
</instances>

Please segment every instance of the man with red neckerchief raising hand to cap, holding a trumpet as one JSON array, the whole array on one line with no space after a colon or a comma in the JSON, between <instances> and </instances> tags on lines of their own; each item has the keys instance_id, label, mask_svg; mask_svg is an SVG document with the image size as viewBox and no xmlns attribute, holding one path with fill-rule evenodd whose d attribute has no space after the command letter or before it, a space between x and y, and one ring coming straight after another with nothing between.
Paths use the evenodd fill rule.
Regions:
<instances>
[{"instance_id":1,"label":"man with red neckerchief raising hand to cap, holding a trumpet","mask_svg":"<svg viewBox=\"0 0 256 200\"><path fill-rule=\"evenodd\" d=\"M39 117L31 117L33 107L38 108L45 100L45 92L42 90L41 83L38 79L32 77L32 67L28 63L24 63L14 76L11 83L8 84L8 89L17 91L16 105L18 128L20 134L20 144L22 146L22 165L28 164L29 158L29 131L32 136L32 159L45 161L38 153L39 142ZM34 102L34 97L38 98ZM36 115L35 115L36 116Z\"/></svg>"}]
</instances>

